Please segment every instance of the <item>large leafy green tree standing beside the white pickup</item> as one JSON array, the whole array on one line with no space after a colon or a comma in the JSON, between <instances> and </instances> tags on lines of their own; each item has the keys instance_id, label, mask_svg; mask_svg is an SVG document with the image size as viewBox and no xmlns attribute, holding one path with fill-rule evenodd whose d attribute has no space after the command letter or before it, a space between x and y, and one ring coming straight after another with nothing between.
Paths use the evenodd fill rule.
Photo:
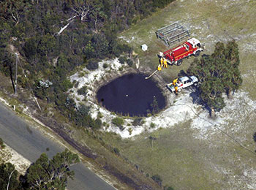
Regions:
<instances>
[{"instance_id":1,"label":"large leafy green tree standing beside the white pickup","mask_svg":"<svg viewBox=\"0 0 256 190\"><path fill-rule=\"evenodd\" d=\"M200 60L189 66L189 75L195 75L200 80L200 98L214 113L225 107L222 97L224 92L231 96L231 92L238 90L242 84L241 73L239 71L240 59L238 45L230 41L225 45L217 42L214 53L211 56L203 55Z\"/></svg>"}]
</instances>

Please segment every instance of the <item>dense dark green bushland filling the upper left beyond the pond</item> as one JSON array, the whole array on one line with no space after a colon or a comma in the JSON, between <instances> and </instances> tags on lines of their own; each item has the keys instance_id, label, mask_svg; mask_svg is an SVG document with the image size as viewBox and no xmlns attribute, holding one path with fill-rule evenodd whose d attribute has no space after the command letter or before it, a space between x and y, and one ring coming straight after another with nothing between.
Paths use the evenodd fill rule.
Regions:
<instances>
[{"instance_id":1,"label":"dense dark green bushland filling the upper left beyond the pond","mask_svg":"<svg viewBox=\"0 0 256 190\"><path fill-rule=\"evenodd\" d=\"M130 55L131 47L116 34L171 1L1 1L0 71L13 77L18 53L18 84L77 123L80 110L66 93L72 87L69 72L77 66L97 69L100 59ZM127 64L132 66L132 60ZM50 86L42 86L45 81Z\"/></svg>"}]
</instances>

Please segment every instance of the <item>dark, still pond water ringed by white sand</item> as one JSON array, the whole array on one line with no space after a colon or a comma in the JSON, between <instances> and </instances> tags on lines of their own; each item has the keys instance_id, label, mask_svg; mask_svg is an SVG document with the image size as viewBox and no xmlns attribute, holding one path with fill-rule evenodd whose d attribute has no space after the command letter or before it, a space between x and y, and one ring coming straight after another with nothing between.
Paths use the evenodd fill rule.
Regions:
<instances>
[{"instance_id":1,"label":"dark, still pond water ringed by white sand","mask_svg":"<svg viewBox=\"0 0 256 190\"><path fill-rule=\"evenodd\" d=\"M129 74L99 88L99 104L111 112L130 116L145 116L165 107L165 97L153 80L145 75Z\"/></svg>"}]
</instances>

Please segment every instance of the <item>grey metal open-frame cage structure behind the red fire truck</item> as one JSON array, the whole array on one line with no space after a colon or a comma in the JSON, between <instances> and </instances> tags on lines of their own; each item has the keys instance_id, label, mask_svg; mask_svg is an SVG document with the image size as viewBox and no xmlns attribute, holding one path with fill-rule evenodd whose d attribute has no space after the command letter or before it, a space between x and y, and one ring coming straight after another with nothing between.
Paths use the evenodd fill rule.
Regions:
<instances>
[{"instance_id":1,"label":"grey metal open-frame cage structure behind the red fire truck","mask_svg":"<svg viewBox=\"0 0 256 190\"><path fill-rule=\"evenodd\" d=\"M189 37L189 29L181 26L181 24L177 22L171 23L168 26L159 28L156 31L157 38L162 39L162 41L170 47L174 42L178 41L181 42L184 37Z\"/></svg>"}]
</instances>

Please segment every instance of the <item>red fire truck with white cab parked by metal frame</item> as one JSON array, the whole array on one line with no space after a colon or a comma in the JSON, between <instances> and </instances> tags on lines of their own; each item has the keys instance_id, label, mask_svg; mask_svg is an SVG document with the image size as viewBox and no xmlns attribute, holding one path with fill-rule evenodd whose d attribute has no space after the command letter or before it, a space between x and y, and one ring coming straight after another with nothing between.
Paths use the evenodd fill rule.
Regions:
<instances>
[{"instance_id":1,"label":"red fire truck with white cab parked by metal frame","mask_svg":"<svg viewBox=\"0 0 256 190\"><path fill-rule=\"evenodd\" d=\"M191 38L187 42L184 42L177 47L165 51L164 53L159 52L159 58L167 61L170 65L181 65L183 58L188 58L189 56L199 56L200 52L205 49L205 46L200 43L198 39ZM162 62L162 61L161 61Z\"/></svg>"}]
</instances>

